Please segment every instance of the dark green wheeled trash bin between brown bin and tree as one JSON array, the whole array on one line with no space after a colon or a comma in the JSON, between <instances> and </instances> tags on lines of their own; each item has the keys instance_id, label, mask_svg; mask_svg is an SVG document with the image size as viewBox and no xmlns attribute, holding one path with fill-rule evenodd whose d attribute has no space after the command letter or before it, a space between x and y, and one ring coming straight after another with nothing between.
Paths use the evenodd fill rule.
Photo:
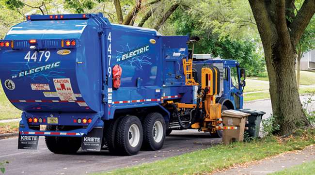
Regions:
<instances>
[{"instance_id":1,"label":"dark green wheeled trash bin between brown bin and tree","mask_svg":"<svg viewBox=\"0 0 315 175\"><path fill-rule=\"evenodd\" d=\"M241 109L239 111L251 114L247 117L245 128L248 129L245 129L244 137L249 139L259 137L260 123L266 112L252 109Z\"/></svg>"}]
</instances>

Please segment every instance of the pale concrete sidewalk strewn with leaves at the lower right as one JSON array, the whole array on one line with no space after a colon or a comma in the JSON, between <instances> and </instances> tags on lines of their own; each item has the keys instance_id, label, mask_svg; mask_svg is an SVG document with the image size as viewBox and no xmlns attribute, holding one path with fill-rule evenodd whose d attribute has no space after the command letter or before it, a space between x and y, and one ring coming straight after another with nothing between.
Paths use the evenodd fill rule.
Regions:
<instances>
[{"instance_id":1,"label":"pale concrete sidewalk strewn with leaves at the lower right","mask_svg":"<svg viewBox=\"0 0 315 175\"><path fill-rule=\"evenodd\" d=\"M268 175L295 165L315 160L315 145L246 164L212 175Z\"/></svg>"}]
</instances>

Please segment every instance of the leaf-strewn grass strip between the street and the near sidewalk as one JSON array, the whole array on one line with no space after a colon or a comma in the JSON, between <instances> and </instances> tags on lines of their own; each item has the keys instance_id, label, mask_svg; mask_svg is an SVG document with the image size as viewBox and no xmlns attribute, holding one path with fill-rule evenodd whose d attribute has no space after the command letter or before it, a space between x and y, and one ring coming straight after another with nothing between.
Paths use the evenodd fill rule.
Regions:
<instances>
[{"instance_id":1,"label":"leaf-strewn grass strip between the street and the near sidewalk","mask_svg":"<svg viewBox=\"0 0 315 175\"><path fill-rule=\"evenodd\" d=\"M270 136L251 143L216 145L152 163L92 175L191 175L209 174L235 164L264 159L315 143L315 129L299 131L296 136L278 140Z\"/></svg>"}]
</instances>

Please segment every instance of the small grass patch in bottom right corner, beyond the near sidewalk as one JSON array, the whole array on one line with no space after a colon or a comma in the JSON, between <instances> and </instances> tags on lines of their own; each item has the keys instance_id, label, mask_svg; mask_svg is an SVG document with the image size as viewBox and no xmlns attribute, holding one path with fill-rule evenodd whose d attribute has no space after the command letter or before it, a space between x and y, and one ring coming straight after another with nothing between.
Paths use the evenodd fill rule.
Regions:
<instances>
[{"instance_id":1,"label":"small grass patch in bottom right corner, beyond the near sidewalk","mask_svg":"<svg viewBox=\"0 0 315 175\"><path fill-rule=\"evenodd\" d=\"M314 175L314 172L315 161L311 161L269 175Z\"/></svg>"}]
</instances>

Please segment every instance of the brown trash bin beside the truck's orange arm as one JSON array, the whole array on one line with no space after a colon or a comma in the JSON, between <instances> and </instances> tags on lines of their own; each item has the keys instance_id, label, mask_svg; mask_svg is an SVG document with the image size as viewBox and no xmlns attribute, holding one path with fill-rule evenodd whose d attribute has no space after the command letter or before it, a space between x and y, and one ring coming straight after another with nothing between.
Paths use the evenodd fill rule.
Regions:
<instances>
[{"instance_id":1,"label":"brown trash bin beside the truck's orange arm","mask_svg":"<svg viewBox=\"0 0 315 175\"><path fill-rule=\"evenodd\" d=\"M235 110L222 111L223 127L237 127L237 129L223 129L222 140L224 144L230 144L233 141L243 141L246 117L249 115L248 113Z\"/></svg>"}]
</instances>

